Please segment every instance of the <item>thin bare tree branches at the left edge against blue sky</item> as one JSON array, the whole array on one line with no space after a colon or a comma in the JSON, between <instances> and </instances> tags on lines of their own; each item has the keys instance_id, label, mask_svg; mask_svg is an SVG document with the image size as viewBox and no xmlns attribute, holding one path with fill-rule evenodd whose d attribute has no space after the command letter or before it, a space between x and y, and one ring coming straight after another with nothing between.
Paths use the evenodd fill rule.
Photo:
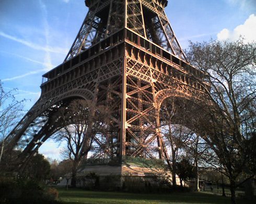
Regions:
<instances>
[{"instance_id":1,"label":"thin bare tree branches at the left edge against blue sky","mask_svg":"<svg viewBox=\"0 0 256 204\"><path fill-rule=\"evenodd\" d=\"M0 81L0 163L4 155L5 138L23 114L25 100L16 100L15 92L15 89L5 92Z\"/></svg>"}]
</instances>

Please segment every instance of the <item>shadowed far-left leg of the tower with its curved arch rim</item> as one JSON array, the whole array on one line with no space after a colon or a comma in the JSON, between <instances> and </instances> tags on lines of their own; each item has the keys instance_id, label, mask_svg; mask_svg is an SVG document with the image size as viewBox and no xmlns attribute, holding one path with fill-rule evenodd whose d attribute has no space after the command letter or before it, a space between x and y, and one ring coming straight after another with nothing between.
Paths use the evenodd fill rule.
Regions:
<instances>
[{"instance_id":1,"label":"shadowed far-left leg of the tower with its curved arch rim","mask_svg":"<svg viewBox=\"0 0 256 204\"><path fill-rule=\"evenodd\" d=\"M46 100L38 106L37 103L42 101L39 98L38 102L12 131L13 134L8 135L6 138L8 146L19 149L21 152L20 158L22 159L33 155L51 135L63 128L63 126L59 126L58 121L51 121L57 110L67 106L72 99L76 98L93 100L93 95L89 90L73 90L56 98Z\"/></svg>"}]
</instances>

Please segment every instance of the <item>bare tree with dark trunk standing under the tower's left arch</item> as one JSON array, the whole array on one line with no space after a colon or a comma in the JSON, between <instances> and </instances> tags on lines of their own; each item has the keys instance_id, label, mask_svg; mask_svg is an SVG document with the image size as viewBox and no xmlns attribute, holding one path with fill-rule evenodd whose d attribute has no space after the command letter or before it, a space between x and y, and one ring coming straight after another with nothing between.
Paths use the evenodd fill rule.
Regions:
<instances>
[{"instance_id":1,"label":"bare tree with dark trunk standing under the tower's left arch","mask_svg":"<svg viewBox=\"0 0 256 204\"><path fill-rule=\"evenodd\" d=\"M67 108L62 108L61 117L64 128L54 136L55 140L65 141L62 151L64 159L73 161L71 186L76 187L77 168L82 158L87 158L96 134L104 134L109 117L103 106L95 106L92 101L76 99Z\"/></svg>"}]
</instances>

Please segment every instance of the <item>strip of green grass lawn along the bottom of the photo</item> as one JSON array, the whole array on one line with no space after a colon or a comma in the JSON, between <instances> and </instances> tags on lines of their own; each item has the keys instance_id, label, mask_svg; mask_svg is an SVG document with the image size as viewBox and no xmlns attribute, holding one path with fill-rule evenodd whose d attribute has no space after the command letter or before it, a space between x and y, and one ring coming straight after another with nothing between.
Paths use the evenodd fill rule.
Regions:
<instances>
[{"instance_id":1,"label":"strip of green grass lawn along the bottom of the photo","mask_svg":"<svg viewBox=\"0 0 256 204\"><path fill-rule=\"evenodd\" d=\"M207 193L131 194L121 192L92 192L82 189L58 188L59 198L65 203L230 203L230 198ZM238 203L254 203L238 200Z\"/></svg>"}]
</instances>

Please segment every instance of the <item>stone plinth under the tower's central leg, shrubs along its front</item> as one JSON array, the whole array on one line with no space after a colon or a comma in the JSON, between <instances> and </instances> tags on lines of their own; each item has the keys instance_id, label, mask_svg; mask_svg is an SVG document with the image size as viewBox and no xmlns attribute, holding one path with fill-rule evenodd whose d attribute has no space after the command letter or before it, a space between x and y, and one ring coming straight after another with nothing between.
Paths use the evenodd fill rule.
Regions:
<instances>
[{"instance_id":1,"label":"stone plinth under the tower's central leg, shrubs along its front","mask_svg":"<svg viewBox=\"0 0 256 204\"><path fill-rule=\"evenodd\" d=\"M127 192L167 192L171 174L156 167L136 165L98 165L85 167L77 173L77 187L89 190L123 190ZM68 181L70 185L71 179ZM177 184L179 179L177 177ZM66 186L64 179L59 186Z\"/></svg>"}]
</instances>

